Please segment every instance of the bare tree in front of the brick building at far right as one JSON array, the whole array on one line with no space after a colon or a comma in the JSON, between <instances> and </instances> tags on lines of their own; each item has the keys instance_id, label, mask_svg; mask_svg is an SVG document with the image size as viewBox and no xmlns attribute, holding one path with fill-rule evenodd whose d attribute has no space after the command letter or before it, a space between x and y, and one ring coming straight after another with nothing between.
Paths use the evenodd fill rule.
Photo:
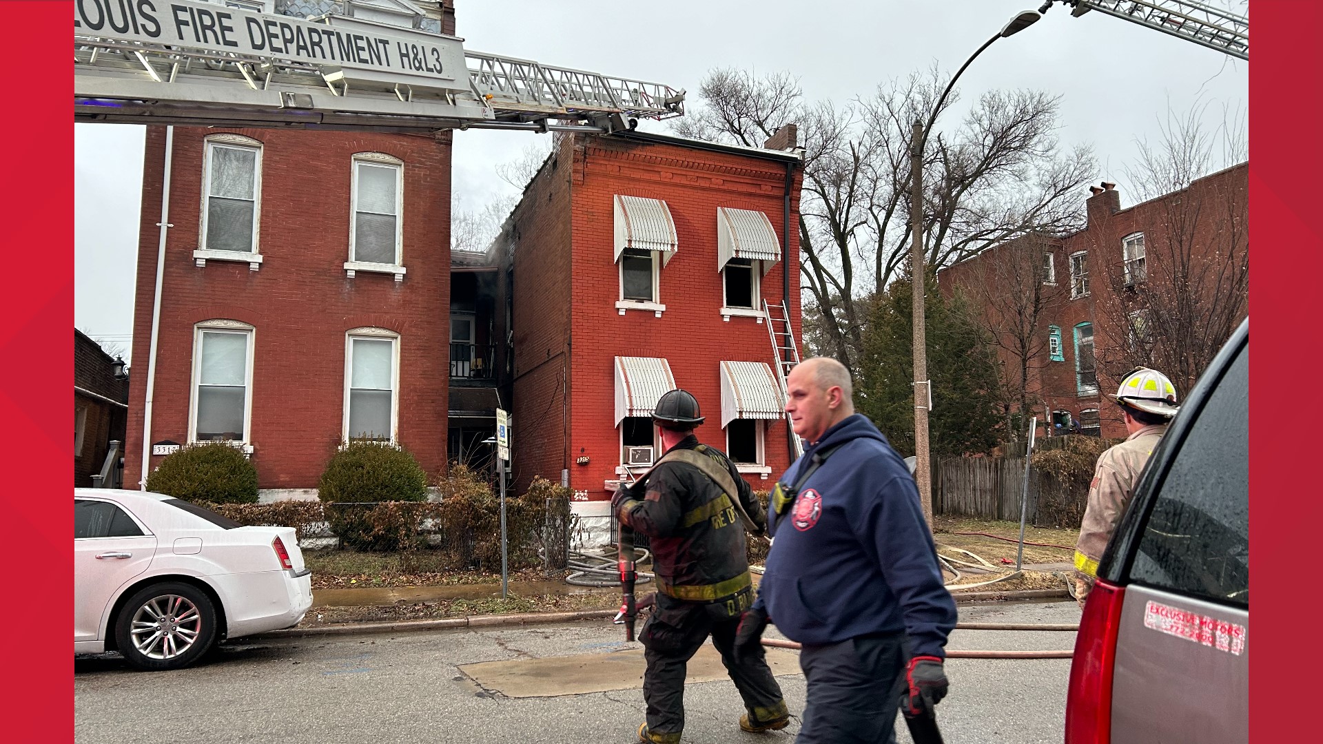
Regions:
<instances>
[{"instance_id":1,"label":"bare tree in front of the brick building at far right","mask_svg":"<svg viewBox=\"0 0 1323 744\"><path fill-rule=\"evenodd\" d=\"M1111 380L1144 365L1188 393L1249 312L1248 168L1201 179L1244 158L1244 119L1224 115L1209 131L1203 114L1168 111L1126 169L1140 199L1166 196L1158 228L1103 266L1113 291L1097 306L1110 336L1099 365Z\"/></svg>"}]
</instances>

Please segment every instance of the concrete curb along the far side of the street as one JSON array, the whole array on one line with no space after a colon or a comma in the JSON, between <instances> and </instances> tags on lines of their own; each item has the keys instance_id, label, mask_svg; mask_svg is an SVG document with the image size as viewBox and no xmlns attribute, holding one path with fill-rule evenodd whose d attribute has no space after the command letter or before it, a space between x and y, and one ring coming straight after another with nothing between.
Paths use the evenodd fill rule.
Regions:
<instances>
[{"instance_id":1,"label":"concrete curb along the far side of the street","mask_svg":"<svg viewBox=\"0 0 1323 744\"><path fill-rule=\"evenodd\" d=\"M999 600L1045 600L1069 598L1065 589L1021 589L1017 592L953 592L957 604L999 601ZM288 628L271 630L251 639L303 638L310 635L356 635L369 633L417 633L427 630L452 630L458 628L503 628L542 622L569 622L577 620L603 620L615 617L617 610L582 612L529 612L517 614L475 614L468 617L447 617L443 620L406 620L401 622L344 622L324 628Z\"/></svg>"}]
</instances>

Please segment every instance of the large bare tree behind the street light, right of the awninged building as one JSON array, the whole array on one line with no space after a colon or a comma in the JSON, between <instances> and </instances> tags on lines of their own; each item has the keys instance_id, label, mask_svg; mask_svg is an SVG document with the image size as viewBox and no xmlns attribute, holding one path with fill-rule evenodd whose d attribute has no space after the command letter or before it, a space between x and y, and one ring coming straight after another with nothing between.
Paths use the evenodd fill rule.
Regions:
<instances>
[{"instance_id":1,"label":"large bare tree behind the street light, right of the awninged building","mask_svg":"<svg viewBox=\"0 0 1323 744\"><path fill-rule=\"evenodd\" d=\"M687 136L759 146L799 124L804 184L800 270L824 351L857 367L868 298L900 277L909 236L912 123L926 120L947 78L937 69L877 87L848 103L802 102L786 73L755 78L714 70L703 107L675 126ZM958 101L947 97L943 107ZM925 253L930 270L1028 232L1078 225L1089 148L1064 151L1057 99L1033 91L983 95L950 136L925 148Z\"/></svg>"}]
</instances>

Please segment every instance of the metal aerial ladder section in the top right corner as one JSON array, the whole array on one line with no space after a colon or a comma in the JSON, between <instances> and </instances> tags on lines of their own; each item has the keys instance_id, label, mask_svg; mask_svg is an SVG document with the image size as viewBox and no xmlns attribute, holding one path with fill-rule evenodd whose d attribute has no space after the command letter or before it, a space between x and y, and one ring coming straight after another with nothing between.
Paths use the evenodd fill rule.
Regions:
<instances>
[{"instance_id":1,"label":"metal aerial ladder section in the top right corner","mask_svg":"<svg viewBox=\"0 0 1323 744\"><path fill-rule=\"evenodd\" d=\"M1193 41L1238 60L1249 61L1249 19L1197 0L1048 0L1070 5L1072 16L1098 11L1142 26Z\"/></svg>"}]
</instances>

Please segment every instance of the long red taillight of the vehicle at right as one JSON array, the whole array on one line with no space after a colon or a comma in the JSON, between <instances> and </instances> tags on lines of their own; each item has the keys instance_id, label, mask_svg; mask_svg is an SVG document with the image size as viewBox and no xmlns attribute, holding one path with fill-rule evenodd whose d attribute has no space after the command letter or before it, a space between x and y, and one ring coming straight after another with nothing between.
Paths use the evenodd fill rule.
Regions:
<instances>
[{"instance_id":1,"label":"long red taillight of the vehicle at right","mask_svg":"<svg viewBox=\"0 0 1323 744\"><path fill-rule=\"evenodd\" d=\"M1065 744L1111 741L1111 673L1125 593L1123 586L1106 581L1098 581L1089 592L1070 662Z\"/></svg>"}]
</instances>

